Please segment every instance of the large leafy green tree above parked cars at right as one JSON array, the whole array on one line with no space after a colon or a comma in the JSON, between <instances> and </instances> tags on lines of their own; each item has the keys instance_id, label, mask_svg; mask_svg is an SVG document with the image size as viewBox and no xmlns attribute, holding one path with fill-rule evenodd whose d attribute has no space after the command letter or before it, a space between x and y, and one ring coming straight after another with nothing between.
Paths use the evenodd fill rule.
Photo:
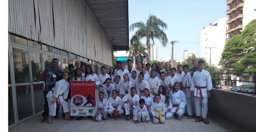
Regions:
<instances>
[{"instance_id":1,"label":"large leafy green tree above parked cars at right","mask_svg":"<svg viewBox=\"0 0 256 132\"><path fill-rule=\"evenodd\" d=\"M256 19L225 44L219 64L233 72L256 72ZM236 74L237 76L241 74Z\"/></svg>"}]
</instances>

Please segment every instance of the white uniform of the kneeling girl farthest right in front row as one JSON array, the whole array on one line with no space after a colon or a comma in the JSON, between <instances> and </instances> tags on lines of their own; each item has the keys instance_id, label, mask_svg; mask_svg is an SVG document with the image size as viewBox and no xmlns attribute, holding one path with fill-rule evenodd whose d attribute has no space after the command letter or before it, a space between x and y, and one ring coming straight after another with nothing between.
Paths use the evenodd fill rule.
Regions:
<instances>
[{"instance_id":1,"label":"white uniform of the kneeling girl farthest right in front row","mask_svg":"<svg viewBox=\"0 0 256 132\"><path fill-rule=\"evenodd\" d=\"M171 119L173 118L174 114L177 113L179 115L179 119L184 113L184 107L186 105L186 97L183 91L178 90L177 92L174 91L172 94L171 90L171 97L169 99L169 106L168 109L172 109L171 112L167 112L165 115L166 119ZM176 112L177 107L172 107L173 105L179 105L180 109Z\"/></svg>"}]
</instances>

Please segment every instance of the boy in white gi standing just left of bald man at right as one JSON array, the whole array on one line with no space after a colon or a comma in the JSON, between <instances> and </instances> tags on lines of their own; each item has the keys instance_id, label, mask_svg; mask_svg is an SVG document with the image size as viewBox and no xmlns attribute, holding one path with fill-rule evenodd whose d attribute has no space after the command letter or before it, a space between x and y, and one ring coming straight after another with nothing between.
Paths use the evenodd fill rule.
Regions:
<instances>
[{"instance_id":1,"label":"boy in white gi standing just left of bald man at right","mask_svg":"<svg viewBox=\"0 0 256 132\"><path fill-rule=\"evenodd\" d=\"M192 105L192 99L195 100L194 96L192 96L191 94L191 91L190 91L190 84L192 82L192 78L191 78L191 74L188 72L188 65L183 65L183 71L185 73L185 76L184 76L184 79L182 81L182 90L185 94L185 97L186 97L186 110L187 110L187 113L188 113L188 119L191 119L192 118L192 115L195 114L195 108Z\"/></svg>"}]
</instances>

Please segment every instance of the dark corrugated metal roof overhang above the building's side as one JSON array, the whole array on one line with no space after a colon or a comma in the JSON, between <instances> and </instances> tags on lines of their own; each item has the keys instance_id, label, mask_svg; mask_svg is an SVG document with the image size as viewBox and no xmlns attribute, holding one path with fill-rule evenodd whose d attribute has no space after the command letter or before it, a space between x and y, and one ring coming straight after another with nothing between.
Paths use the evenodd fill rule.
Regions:
<instances>
[{"instance_id":1,"label":"dark corrugated metal roof overhang above the building's side","mask_svg":"<svg viewBox=\"0 0 256 132\"><path fill-rule=\"evenodd\" d=\"M114 46L129 50L128 0L86 0Z\"/></svg>"}]
</instances>

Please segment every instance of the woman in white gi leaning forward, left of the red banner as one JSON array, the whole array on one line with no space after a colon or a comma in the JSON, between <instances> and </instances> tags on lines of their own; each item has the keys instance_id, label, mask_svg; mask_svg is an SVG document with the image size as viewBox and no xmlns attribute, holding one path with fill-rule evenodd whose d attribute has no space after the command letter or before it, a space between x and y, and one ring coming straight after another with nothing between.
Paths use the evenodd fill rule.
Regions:
<instances>
[{"instance_id":1,"label":"woman in white gi leaning forward, left of the red banner","mask_svg":"<svg viewBox=\"0 0 256 132\"><path fill-rule=\"evenodd\" d=\"M69 106L67 102L68 91L69 91L69 82L68 82L68 73L64 72L62 75L63 79L55 83L55 86L49 91L46 95L48 105L49 105L49 116L47 123L52 124L52 116L56 115L57 105L62 106L63 112L65 113L65 119L72 120L68 117Z\"/></svg>"}]
</instances>

